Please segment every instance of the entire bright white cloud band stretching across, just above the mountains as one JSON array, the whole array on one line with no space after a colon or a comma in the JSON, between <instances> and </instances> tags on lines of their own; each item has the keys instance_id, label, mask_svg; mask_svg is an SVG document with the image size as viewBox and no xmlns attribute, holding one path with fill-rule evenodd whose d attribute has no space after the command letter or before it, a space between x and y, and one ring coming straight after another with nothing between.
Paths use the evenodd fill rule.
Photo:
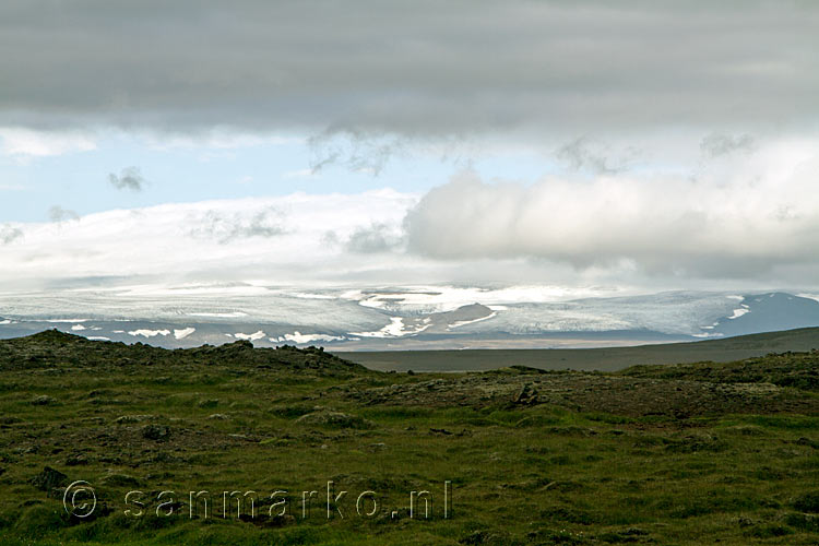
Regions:
<instances>
[{"instance_id":1,"label":"entire bright white cloud band stretching across, just above the mountains","mask_svg":"<svg viewBox=\"0 0 819 546\"><path fill-rule=\"evenodd\" d=\"M817 140L755 138L752 150L712 154L693 178L679 168L592 168L535 183L464 174L423 197L294 193L16 223L3 232L0 282L498 283L575 293L747 281L812 290L817 150Z\"/></svg>"}]
</instances>

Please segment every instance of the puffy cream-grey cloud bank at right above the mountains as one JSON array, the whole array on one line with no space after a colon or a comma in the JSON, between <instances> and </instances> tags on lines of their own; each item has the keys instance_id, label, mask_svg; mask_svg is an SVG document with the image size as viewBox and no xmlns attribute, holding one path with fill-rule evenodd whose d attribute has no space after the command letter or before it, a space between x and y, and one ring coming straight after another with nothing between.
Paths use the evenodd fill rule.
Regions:
<instances>
[{"instance_id":1,"label":"puffy cream-grey cloud bank at right above the mountains","mask_svg":"<svg viewBox=\"0 0 819 546\"><path fill-rule=\"evenodd\" d=\"M617 175L523 185L464 173L407 213L407 245L437 260L523 258L667 278L817 268L819 155L803 144L786 162L772 159L782 153L767 151L727 179Z\"/></svg>"}]
</instances>

